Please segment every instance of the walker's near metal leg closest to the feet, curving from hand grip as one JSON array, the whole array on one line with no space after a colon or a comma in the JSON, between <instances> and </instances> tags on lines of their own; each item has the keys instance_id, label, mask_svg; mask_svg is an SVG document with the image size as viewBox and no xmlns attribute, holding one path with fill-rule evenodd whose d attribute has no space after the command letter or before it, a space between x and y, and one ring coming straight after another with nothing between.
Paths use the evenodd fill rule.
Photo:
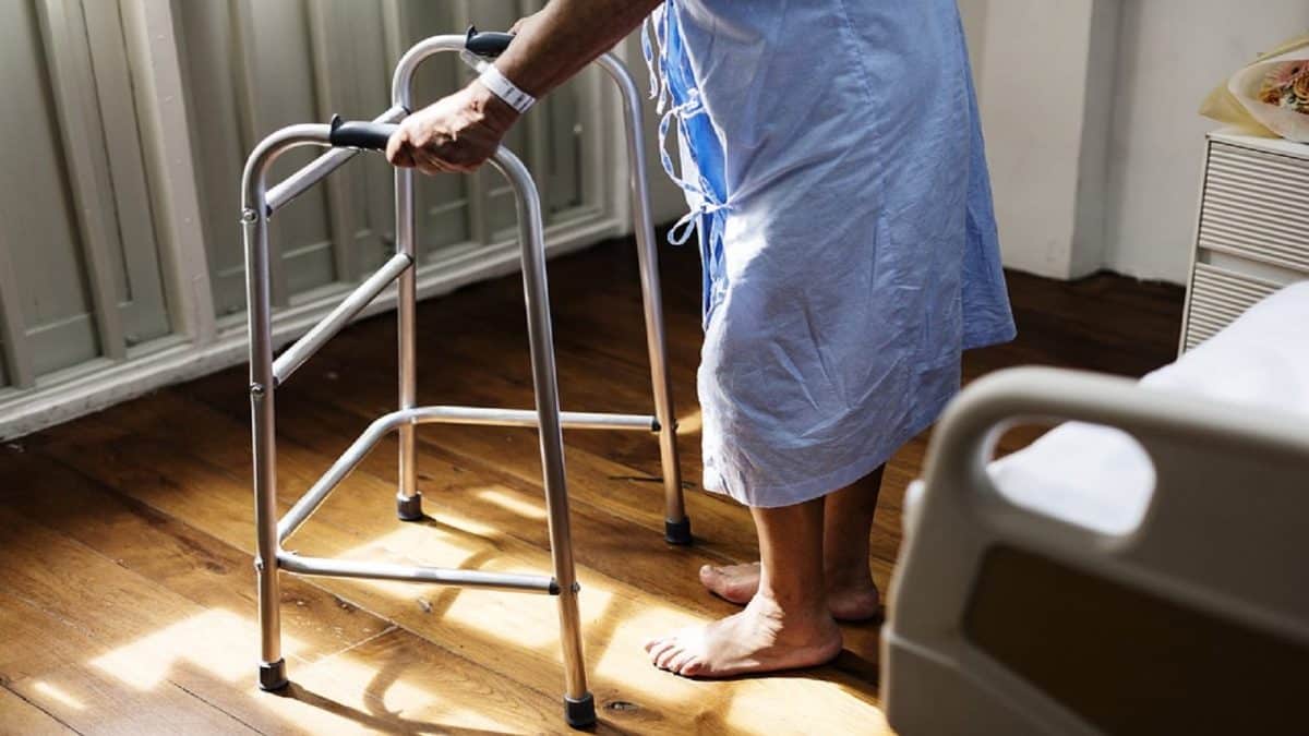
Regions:
<instances>
[{"instance_id":1,"label":"walker's near metal leg closest to the feet, curving from hand grip","mask_svg":"<svg viewBox=\"0 0 1309 736\"><path fill-rule=\"evenodd\" d=\"M541 466L550 520L550 557L559 581L559 638L564 656L565 698L583 701L586 663L581 646L581 616L577 610L577 579L573 568L568 488L564 474L563 428L559 418L559 384L555 375L554 335L550 326L550 293L546 288L546 241L541 196L531 174L513 153L500 148L491 162L513 186L518 210L518 240L522 246L522 283L528 303L528 343L531 350L531 382L539 416Z\"/></svg>"}]
</instances>

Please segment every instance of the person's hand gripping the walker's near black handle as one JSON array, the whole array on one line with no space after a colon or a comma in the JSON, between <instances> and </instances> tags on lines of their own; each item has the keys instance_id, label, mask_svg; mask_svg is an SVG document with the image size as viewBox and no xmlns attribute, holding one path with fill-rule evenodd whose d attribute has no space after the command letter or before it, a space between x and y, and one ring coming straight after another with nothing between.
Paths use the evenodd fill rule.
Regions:
<instances>
[{"instance_id":1,"label":"person's hand gripping the walker's near black handle","mask_svg":"<svg viewBox=\"0 0 1309 736\"><path fill-rule=\"evenodd\" d=\"M386 145L386 160L424 174L474 172L517 119L517 110L474 81L404 118Z\"/></svg>"}]
</instances>

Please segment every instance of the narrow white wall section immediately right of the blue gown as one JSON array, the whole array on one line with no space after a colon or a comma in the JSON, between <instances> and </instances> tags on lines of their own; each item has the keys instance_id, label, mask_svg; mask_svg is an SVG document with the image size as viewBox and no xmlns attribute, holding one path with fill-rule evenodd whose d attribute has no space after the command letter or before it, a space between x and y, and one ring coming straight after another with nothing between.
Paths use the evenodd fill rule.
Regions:
<instances>
[{"instance_id":1,"label":"narrow white wall section immediately right of the blue gown","mask_svg":"<svg viewBox=\"0 0 1309 736\"><path fill-rule=\"evenodd\" d=\"M1098 268L1117 0L962 3L1009 267ZM1039 33L1031 33L1038 28Z\"/></svg>"}]
</instances>

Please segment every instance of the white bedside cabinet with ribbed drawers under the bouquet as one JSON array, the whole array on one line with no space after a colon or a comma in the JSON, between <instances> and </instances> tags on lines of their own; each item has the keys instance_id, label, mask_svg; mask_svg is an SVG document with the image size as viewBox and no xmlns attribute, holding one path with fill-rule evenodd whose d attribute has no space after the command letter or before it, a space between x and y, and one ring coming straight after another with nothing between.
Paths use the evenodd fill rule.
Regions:
<instances>
[{"instance_id":1,"label":"white bedside cabinet with ribbed drawers under the bouquet","mask_svg":"<svg viewBox=\"0 0 1309 736\"><path fill-rule=\"evenodd\" d=\"M1220 131L1204 161L1182 352L1309 279L1309 145Z\"/></svg>"}]
</instances>

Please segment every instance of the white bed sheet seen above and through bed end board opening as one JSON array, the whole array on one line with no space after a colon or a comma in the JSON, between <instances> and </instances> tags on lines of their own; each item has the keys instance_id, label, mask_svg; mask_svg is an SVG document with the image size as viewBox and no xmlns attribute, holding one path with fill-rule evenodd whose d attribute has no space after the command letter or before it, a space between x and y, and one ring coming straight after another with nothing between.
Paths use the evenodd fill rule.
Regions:
<instances>
[{"instance_id":1,"label":"white bed sheet seen above and through bed end board opening","mask_svg":"<svg viewBox=\"0 0 1309 736\"><path fill-rule=\"evenodd\" d=\"M1141 385L1251 410L1302 413L1309 430L1309 282L1250 308ZM1014 504L1106 534L1135 529L1155 488L1149 457L1130 435L1080 422L1055 427L988 470ZM916 486L906 499L911 520L922 491Z\"/></svg>"}]
</instances>

